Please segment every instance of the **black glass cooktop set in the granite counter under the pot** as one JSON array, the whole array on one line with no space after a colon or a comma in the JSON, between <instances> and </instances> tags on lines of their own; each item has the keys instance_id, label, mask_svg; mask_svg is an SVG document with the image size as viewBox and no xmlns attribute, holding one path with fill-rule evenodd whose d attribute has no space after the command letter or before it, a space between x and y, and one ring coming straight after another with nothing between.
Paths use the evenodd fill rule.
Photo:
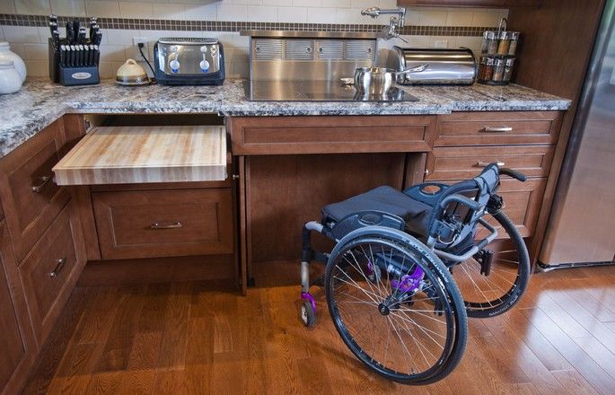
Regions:
<instances>
[{"instance_id":1,"label":"black glass cooktop set in the granite counter under the pot","mask_svg":"<svg viewBox=\"0 0 615 395\"><path fill-rule=\"evenodd\" d=\"M340 81L248 81L245 89L248 101L418 101L399 88L373 96Z\"/></svg>"}]
</instances>

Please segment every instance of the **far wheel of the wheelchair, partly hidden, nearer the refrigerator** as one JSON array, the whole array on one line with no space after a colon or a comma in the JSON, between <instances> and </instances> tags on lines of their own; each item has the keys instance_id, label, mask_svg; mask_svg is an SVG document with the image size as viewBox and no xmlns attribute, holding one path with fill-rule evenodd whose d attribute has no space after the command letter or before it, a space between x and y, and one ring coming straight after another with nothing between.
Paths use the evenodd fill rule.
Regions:
<instances>
[{"instance_id":1,"label":"far wheel of the wheelchair, partly hidden, nearer the refrigerator","mask_svg":"<svg viewBox=\"0 0 615 395\"><path fill-rule=\"evenodd\" d=\"M489 215L484 218L499 225L498 239L473 258L451 268L468 316L477 318L493 317L510 310L530 280L530 257L513 222L502 212L493 218ZM479 233L477 238L480 236Z\"/></svg>"}]
</instances>

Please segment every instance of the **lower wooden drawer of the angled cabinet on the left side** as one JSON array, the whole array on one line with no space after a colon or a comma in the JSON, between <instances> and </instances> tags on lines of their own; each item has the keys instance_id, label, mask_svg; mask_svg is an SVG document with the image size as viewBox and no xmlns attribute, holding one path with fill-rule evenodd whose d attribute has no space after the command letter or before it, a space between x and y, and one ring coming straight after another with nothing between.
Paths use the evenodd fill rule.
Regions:
<instances>
[{"instance_id":1,"label":"lower wooden drawer of the angled cabinet on the left side","mask_svg":"<svg viewBox=\"0 0 615 395\"><path fill-rule=\"evenodd\" d=\"M66 206L57 216L19 268L39 344L47 337L83 268L83 251L76 250L74 242L81 230L70 217L70 208Z\"/></svg>"}]
</instances>

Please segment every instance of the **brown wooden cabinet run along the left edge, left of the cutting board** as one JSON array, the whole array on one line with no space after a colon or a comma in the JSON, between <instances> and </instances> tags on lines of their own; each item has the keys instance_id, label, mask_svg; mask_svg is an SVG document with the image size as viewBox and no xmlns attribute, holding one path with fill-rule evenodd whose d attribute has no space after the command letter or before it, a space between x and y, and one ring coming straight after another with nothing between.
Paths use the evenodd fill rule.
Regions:
<instances>
[{"instance_id":1,"label":"brown wooden cabinet run along the left edge, left of the cutting board","mask_svg":"<svg viewBox=\"0 0 615 395\"><path fill-rule=\"evenodd\" d=\"M78 216L51 168L64 119L0 159L0 392L18 393L85 264ZM1 218L5 216L5 219ZM52 257L65 258L58 266ZM54 276L49 273L57 270ZM56 276L57 275L57 276Z\"/></svg>"}]
</instances>

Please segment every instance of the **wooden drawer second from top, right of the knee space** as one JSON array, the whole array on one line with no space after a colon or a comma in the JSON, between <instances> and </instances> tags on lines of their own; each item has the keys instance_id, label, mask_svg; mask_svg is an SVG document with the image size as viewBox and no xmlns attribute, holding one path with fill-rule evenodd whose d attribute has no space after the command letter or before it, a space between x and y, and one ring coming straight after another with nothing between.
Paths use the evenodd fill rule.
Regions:
<instances>
[{"instance_id":1,"label":"wooden drawer second from top, right of the knee space","mask_svg":"<svg viewBox=\"0 0 615 395\"><path fill-rule=\"evenodd\" d=\"M427 154L425 180L471 179L489 162L504 163L530 177L546 177L554 151L555 145L434 148Z\"/></svg>"}]
</instances>

